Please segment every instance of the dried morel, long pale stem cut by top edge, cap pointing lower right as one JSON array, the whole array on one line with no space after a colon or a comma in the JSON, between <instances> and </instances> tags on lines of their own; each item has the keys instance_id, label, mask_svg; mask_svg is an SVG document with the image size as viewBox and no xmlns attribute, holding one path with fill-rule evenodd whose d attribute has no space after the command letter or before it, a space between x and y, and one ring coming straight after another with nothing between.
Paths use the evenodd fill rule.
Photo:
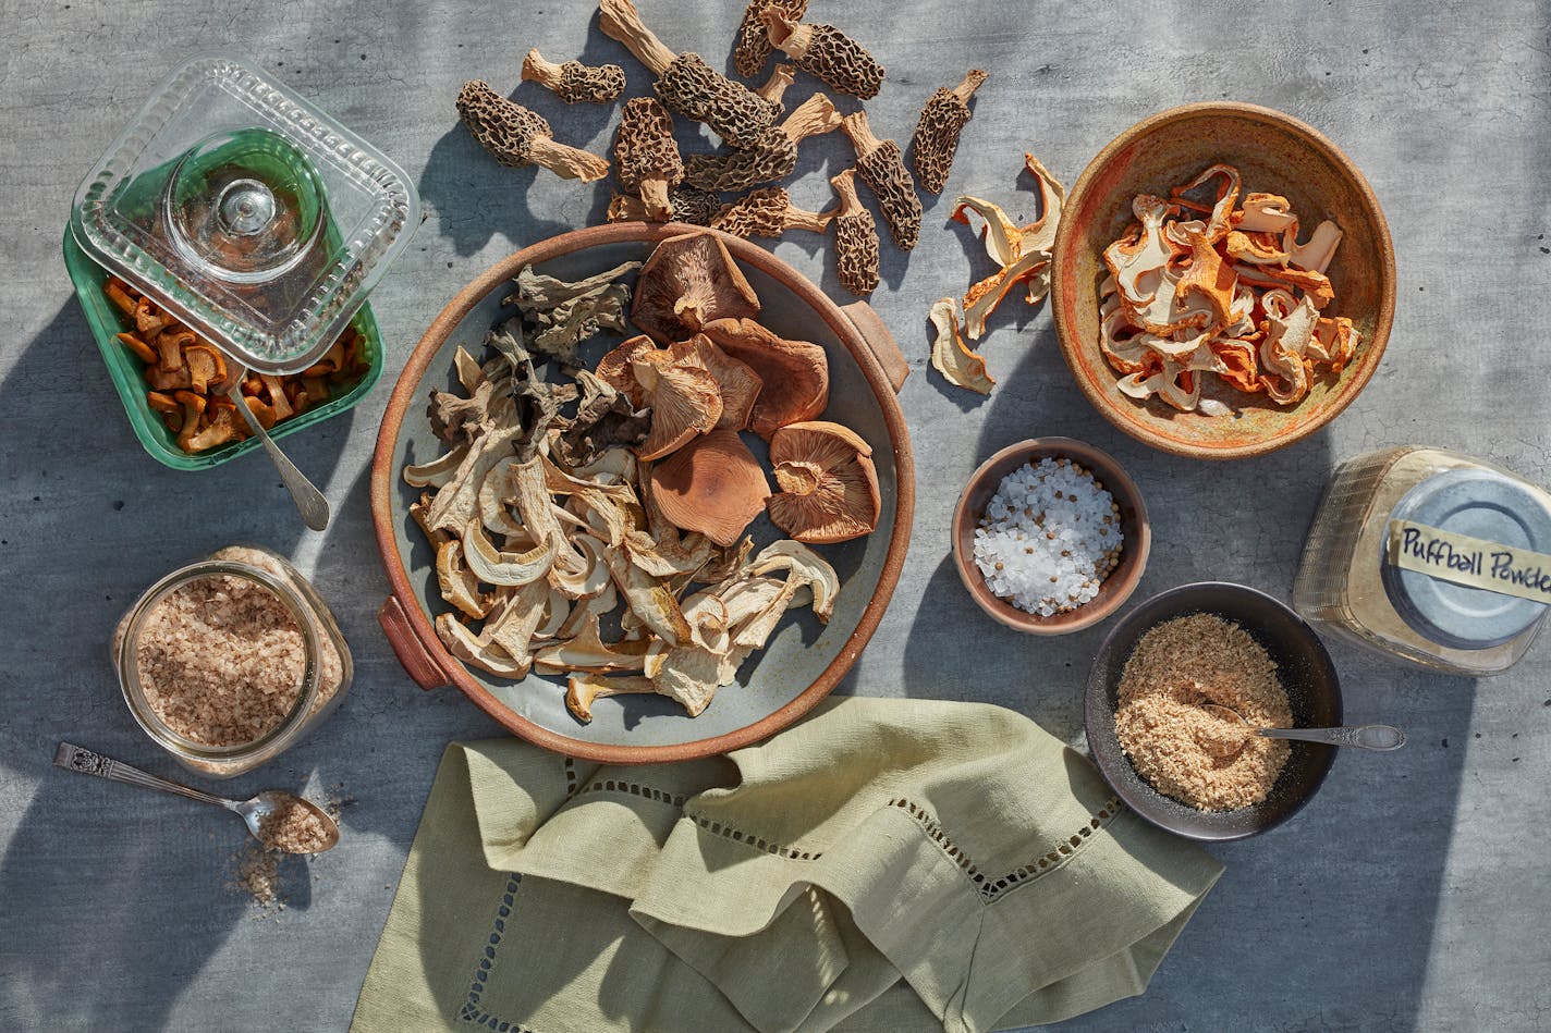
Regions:
<instances>
[{"instance_id":1,"label":"dried morel, long pale stem cut by top edge, cap pointing lower right","mask_svg":"<svg viewBox=\"0 0 1551 1033\"><path fill-rule=\"evenodd\" d=\"M710 126L734 147L748 147L776 121L779 104L713 71L695 53L675 54L641 22L630 0L600 0L597 25L658 76L656 92L675 112Z\"/></svg>"}]
</instances>

